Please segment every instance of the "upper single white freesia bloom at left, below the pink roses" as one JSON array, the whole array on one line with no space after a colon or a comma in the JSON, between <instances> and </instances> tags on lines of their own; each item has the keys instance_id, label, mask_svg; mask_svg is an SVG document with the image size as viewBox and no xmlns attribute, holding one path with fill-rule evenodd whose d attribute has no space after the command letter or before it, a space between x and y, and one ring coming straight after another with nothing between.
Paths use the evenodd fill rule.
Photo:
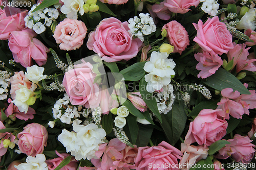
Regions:
<instances>
[{"instance_id":1,"label":"upper single white freesia bloom at left, below the pink roses","mask_svg":"<svg viewBox=\"0 0 256 170\"><path fill-rule=\"evenodd\" d=\"M33 83L38 83L42 79L46 78L46 75L42 75L44 73L44 70L44 67L32 65L31 67L27 67L27 72L25 73L25 76Z\"/></svg>"}]
</instances>

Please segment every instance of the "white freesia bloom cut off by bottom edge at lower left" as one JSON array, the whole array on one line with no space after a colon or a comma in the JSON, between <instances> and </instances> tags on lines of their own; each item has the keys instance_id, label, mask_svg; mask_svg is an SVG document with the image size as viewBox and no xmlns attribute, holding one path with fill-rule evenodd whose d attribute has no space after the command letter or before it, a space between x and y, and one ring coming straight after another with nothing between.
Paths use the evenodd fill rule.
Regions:
<instances>
[{"instance_id":1,"label":"white freesia bloom cut off by bottom edge at lower left","mask_svg":"<svg viewBox=\"0 0 256 170\"><path fill-rule=\"evenodd\" d=\"M28 156L26 159L27 163L20 163L19 165L14 165L18 170L48 170L46 157L44 154L37 154L36 157Z\"/></svg>"}]
</instances>

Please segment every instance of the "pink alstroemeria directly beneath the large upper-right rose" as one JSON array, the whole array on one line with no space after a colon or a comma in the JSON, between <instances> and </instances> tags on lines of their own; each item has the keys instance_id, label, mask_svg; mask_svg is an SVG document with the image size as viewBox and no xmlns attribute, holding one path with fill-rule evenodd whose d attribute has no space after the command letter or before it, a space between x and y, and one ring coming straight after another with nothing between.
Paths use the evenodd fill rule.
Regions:
<instances>
[{"instance_id":1,"label":"pink alstroemeria directly beneath the large upper-right rose","mask_svg":"<svg viewBox=\"0 0 256 170\"><path fill-rule=\"evenodd\" d=\"M208 52L197 53L195 54L195 58L197 61L199 61L196 68L201 70L197 77L201 77L202 79L215 74L215 72L223 64L223 61L218 54L211 54Z\"/></svg>"}]
</instances>

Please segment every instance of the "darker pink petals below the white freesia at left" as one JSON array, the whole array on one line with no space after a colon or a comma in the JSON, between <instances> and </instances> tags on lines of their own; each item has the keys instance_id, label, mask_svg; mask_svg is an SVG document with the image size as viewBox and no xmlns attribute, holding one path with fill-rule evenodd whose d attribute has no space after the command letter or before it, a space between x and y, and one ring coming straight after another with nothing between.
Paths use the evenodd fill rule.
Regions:
<instances>
[{"instance_id":1,"label":"darker pink petals below the white freesia at left","mask_svg":"<svg viewBox=\"0 0 256 170\"><path fill-rule=\"evenodd\" d=\"M18 107L16 105L13 105L13 103L11 103L11 101L12 101L11 99L8 99L8 103L10 103L10 104L9 104L8 108L5 110L5 114L7 117L10 115L13 115L20 120L26 120L26 121L28 119L34 118L33 114L36 114L36 113L33 108L29 107L27 113L25 114L25 112L20 112L18 110Z\"/></svg>"}]
</instances>

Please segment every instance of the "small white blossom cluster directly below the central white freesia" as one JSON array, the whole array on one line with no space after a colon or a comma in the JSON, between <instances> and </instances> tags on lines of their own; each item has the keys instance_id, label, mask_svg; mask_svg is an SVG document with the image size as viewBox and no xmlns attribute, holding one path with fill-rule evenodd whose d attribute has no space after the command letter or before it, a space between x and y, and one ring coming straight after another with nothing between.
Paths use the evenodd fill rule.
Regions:
<instances>
[{"instance_id":1,"label":"small white blossom cluster directly below the central white freesia","mask_svg":"<svg viewBox=\"0 0 256 170\"><path fill-rule=\"evenodd\" d=\"M174 86L172 84L164 85L163 91L156 93L155 98L159 113L167 114L173 108L175 100Z\"/></svg>"}]
</instances>

